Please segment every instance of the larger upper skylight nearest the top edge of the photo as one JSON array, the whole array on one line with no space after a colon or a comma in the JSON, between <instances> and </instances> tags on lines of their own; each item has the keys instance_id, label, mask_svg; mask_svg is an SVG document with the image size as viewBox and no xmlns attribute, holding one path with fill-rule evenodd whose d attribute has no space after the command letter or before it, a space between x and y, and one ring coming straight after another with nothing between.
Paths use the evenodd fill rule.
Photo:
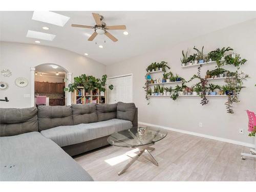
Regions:
<instances>
[{"instance_id":1,"label":"larger upper skylight nearest the top edge of the photo","mask_svg":"<svg viewBox=\"0 0 256 192\"><path fill-rule=\"evenodd\" d=\"M54 13L52 11L34 11L32 19L63 27L68 22L70 17Z\"/></svg>"}]
</instances>

